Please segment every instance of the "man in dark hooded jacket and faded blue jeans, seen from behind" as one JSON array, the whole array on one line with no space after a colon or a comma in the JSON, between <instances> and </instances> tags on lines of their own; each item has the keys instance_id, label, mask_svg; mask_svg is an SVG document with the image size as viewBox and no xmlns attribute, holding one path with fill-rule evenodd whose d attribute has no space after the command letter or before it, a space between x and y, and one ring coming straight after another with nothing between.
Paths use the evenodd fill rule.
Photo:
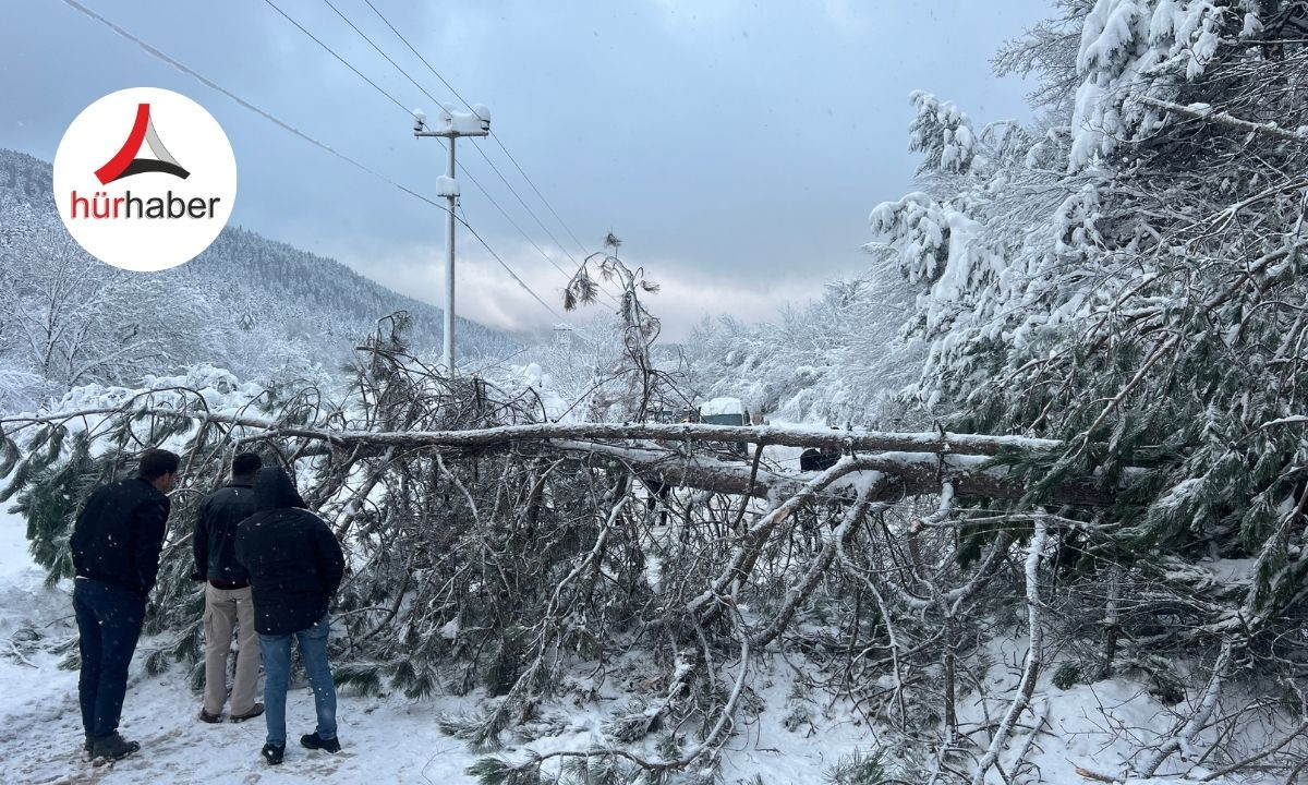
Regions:
<instances>
[{"instance_id":1,"label":"man in dark hooded jacket and faded blue jeans, seen from behind","mask_svg":"<svg viewBox=\"0 0 1308 785\"><path fill-rule=\"evenodd\" d=\"M336 687L327 661L327 607L340 586L345 557L336 535L305 509L296 484L279 467L260 468L254 480L255 514L237 527L235 555L250 573L255 629L263 654L263 758L281 763L286 751L286 686L290 644L300 642L314 689L318 727L300 738L310 750L340 751L336 739Z\"/></svg>"}]
</instances>

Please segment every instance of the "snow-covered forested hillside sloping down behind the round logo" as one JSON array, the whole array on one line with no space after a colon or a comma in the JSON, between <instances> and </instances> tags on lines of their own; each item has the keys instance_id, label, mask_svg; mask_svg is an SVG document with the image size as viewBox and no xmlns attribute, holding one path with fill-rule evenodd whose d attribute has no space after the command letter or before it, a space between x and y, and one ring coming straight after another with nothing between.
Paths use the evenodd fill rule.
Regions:
<instances>
[{"instance_id":1,"label":"snow-covered forested hillside sloping down behind the round logo","mask_svg":"<svg viewBox=\"0 0 1308 785\"><path fill-rule=\"evenodd\" d=\"M225 230L188 264L132 275L102 264L55 211L50 165L0 149L0 408L93 382L136 383L211 364L246 379L330 383L377 319L411 315L415 353L439 351L441 310L331 259ZM518 340L459 321L472 361Z\"/></svg>"}]
</instances>

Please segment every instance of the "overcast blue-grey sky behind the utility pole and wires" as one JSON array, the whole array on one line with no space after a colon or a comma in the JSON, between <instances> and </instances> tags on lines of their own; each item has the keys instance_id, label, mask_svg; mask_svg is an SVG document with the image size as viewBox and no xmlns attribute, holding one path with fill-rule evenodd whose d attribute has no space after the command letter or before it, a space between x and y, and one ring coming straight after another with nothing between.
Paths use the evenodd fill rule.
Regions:
<instances>
[{"instance_id":1,"label":"overcast blue-grey sky behind the utility pole and wires","mask_svg":"<svg viewBox=\"0 0 1308 785\"><path fill-rule=\"evenodd\" d=\"M263 0L80 0L246 101L386 177L434 194L443 152L411 119ZM407 107L433 102L326 0L273 0ZM365 0L331 0L439 101L453 94ZM973 120L1024 119L1027 85L989 60L1046 12L1042 0L373 0L492 128L462 141L467 166L564 270L612 230L663 285L651 298L676 339L704 314L766 319L863 264L867 213L910 187L908 94L956 101ZM0 147L47 161L95 98L178 90L224 126L239 167L233 222L336 258L439 304L442 215L351 167L60 0L0 0ZM477 154L509 179L556 245ZM473 228L561 311L564 275L462 183ZM569 255L572 258L569 258ZM557 318L466 233L462 315L508 328Z\"/></svg>"}]
</instances>

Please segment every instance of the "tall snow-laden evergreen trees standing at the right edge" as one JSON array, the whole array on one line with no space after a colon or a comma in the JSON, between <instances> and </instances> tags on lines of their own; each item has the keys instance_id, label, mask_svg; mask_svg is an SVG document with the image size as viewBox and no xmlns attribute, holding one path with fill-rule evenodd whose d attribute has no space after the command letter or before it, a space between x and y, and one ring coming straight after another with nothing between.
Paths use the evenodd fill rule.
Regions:
<instances>
[{"instance_id":1,"label":"tall snow-laden evergreen trees standing at the right edge","mask_svg":"<svg viewBox=\"0 0 1308 785\"><path fill-rule=\"evenodd\" d=\"M1036 127L986 126L964 167L965 115L914 94L922 190L871 226L918 288L922 403L1062 441L1014 466L1019 506L1093 476L1116 504L1061 509L1054 535L1100 597L1162 576L1194 603L1152 650L1112 632L1104 672L1184 652L1216 696L1232 650L1278 672L1267 646L1304 615L1308 5L1058 5L998 59L1041 80ZM1248 589L1201 580L1213 559L1253 560Z\"/></svg>"}]
</instances>

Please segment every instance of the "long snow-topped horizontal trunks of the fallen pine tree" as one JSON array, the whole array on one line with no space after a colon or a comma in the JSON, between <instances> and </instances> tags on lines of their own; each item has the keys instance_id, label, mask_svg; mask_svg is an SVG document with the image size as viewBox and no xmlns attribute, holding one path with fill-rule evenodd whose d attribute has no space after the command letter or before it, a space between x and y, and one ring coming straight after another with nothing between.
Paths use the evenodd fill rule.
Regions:
<instances>
[{"instance_id":1,"label":"long snow-topped horizontal trunks of the fallen pine tree","mask_svg":"<svg viewBox=\"0 0 1308 785\"><path fill-rule=\"evenodd\" d=\"M595 455L615 458L628 464L638 476L658 483L755 497L764 497L777 491L798 493L808 478L760 470L756 479L751 480L751 471L746 463L722 461L706 451L684 454L659 442L744 441L755 445L841 449L857 455L857 471L883 472L895 479L874 501L938 493L942 478L952 483L956 493L963 497L1020 498L1025 488L1008 478L1003 467L990 466L993 455L1001 450L1052 451L1062 446L1062 442L1054 440L1019 436L658 423L549 423L468 430L336 430L222 413L203 407L179 408L135 403L118 408L88 408L0 419L0 429L13 437L31 427L114 415L192 420L201 427L230 425L247 430L241 434L243 442L297 438L331 445L334 449L483 450L535 442L542 450L562 453L572 458L590 459ZM1087 478L1084 481L1065 483L1056 492L1056 498L1065 504L1103 506L1112 504L1113 495L1097 488L1093 480Z\"/></svg>"}]
</instances>

